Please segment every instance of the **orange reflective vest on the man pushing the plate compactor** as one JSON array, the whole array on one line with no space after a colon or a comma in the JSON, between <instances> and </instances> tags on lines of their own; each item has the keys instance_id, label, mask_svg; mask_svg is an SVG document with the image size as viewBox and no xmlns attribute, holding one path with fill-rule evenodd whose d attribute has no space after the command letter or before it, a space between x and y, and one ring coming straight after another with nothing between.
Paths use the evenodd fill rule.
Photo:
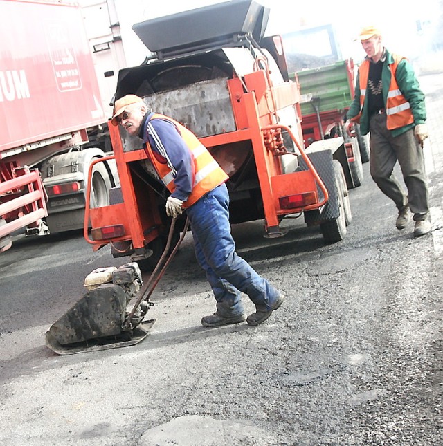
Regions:
<instances>
[{"instance_id":1,"label":"orange reflective vest on the man pushing the plate compactor","mask_svg":"<svg viewBox=\"0 0 443 446\"><path fill-rule=\"evenodd\" d=\"M151 120L152 119L168 120L172 122L175 127L177 127L181 137L188 146L192 161L194 162L194 185L192 187L190 195L188 196L188 199L182 205L183 208L190 207L197 200L199 200L199 198L204 196L204 194L207 194L215 187L228 180L229 177L226 172L221 169L219 163L209 153L208 149L206 149L206 147L201 144L199 138L197 138L197 136L195 136L192 131L186 129L186 127L179 124L179 122L174 121L172 118L169 118L168 116L163 116L155 113L154 115L152 115ZM168 187L168 190L172 194L172 192L174 192L175 190L172 168L168 166L167 162L163 163L157 159L149 142L146 142L145 150L161 180L163 181L165 186Z\"/></svg>"}]
</instances>

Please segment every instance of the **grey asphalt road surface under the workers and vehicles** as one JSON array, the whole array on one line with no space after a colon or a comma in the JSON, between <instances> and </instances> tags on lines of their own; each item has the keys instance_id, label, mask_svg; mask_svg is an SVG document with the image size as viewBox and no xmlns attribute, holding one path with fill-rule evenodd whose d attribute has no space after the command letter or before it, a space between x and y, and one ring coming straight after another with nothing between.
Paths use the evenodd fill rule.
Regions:
<instances>
[{"instance_id":1,"label":"grey asphalt road surface under the workers and vehicles","mask_svg":"<svg viewBox=\"0 0 443 446\"><path fill-rule=\"evenodd\" d=\"M368 164L340 243L296 219L273 240L236 225L237 252L286 296L260 326L201 326L215 301L186 236L143 342L57 355L44 334L84 277L126 259L78 233L17 239L0 256L0 444L441 445L441 74L422 87L431 234L395 228Z\"/></svg>"}]
</instances>

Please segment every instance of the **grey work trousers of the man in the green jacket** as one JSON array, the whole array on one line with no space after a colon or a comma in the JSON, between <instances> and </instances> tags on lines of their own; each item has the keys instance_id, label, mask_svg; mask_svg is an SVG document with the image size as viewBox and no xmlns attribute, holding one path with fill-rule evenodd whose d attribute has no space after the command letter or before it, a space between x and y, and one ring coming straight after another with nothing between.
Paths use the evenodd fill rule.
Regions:
<instances>
[{"instance_id":1,"label":"grey work trousers of the man in the green jacket","mask_svg":"<svg viewBox=\"0 0 443 446\"><path fill-rule=\"evenodd\" d=\"M408 195L392 173L397 160ZM409 203L415 221L427 218L429 192L423 149L415 139L413 129L392 136L386 128L386 113L370 118L370 174L381 192L394 201L398 210Z\"/></svg>"}]
</instances>

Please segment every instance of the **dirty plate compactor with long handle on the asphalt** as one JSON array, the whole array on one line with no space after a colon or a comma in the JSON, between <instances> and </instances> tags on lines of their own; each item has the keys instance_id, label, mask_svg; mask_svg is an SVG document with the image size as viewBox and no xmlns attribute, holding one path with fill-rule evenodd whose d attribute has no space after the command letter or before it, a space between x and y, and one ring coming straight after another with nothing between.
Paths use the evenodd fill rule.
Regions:
<instances>
[{"instance_id":1,"label":"dirty plate compactor with long handle on the asphalt","mask_svg":"<svg viewBox=\"0 0 443 446\"><path fill-rule=\"evenodd\" d=\"M179 249L189 221L186 220L177 245L165 261L170 252L174 225L175 219L172 219L165 250L146 284L143 284L136 262L93 270L84 279L87 292L82 299L46 332L46 346L59 355L71 355L130 346L145 339L155 322L155 319L145 319L147 311L154 305L150 296ZM127 310L134 297L136 302L132 310Z\"/></svg>"}]
</instances>

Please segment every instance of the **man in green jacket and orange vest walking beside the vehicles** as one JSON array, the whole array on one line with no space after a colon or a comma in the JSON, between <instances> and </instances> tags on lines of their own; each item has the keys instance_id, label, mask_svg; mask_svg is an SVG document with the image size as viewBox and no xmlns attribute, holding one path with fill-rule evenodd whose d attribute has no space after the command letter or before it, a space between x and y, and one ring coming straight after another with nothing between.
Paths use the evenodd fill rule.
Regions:
<instances>
[{"instance_id":1,"label":"man in green jacket and orange vest walking beside the vehicles","mask_svg":"<svg viewBox=\"0 0 443 446\"><path fill-rule=\"evenodd\" d=\"M370 132L370 174L398 209L395 225L404 229L413 213L414 236L431 231L423 142L428 137L424 93L408 59L390 53L381 32L367 26L360 32L367 57L359 66L354 100L345 129L353 123ZM399 162L408 194L392 173Z\"/></svg>"}]
</instances>

